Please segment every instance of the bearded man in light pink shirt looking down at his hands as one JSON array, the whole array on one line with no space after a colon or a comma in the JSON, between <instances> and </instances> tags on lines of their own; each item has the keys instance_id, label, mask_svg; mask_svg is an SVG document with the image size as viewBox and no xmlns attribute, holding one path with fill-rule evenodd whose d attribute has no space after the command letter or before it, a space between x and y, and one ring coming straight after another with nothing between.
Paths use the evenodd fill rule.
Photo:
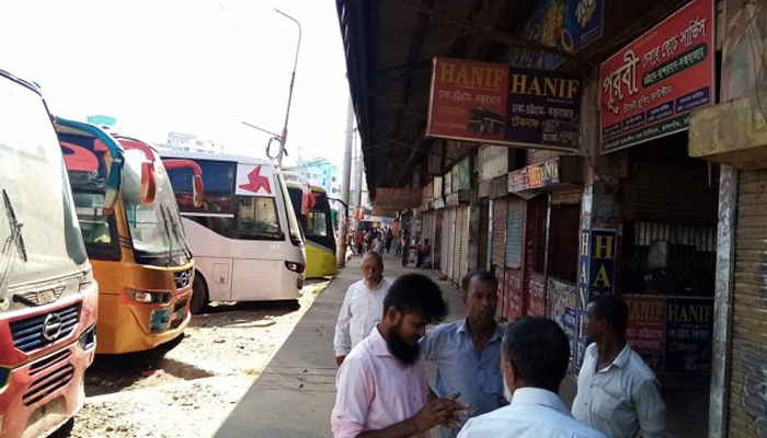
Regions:
<instances>
[{"instance_id":1,"label":"bearded man in light pink shirt looking down at his hands","mask_svg":"<svg viewBox=\"0 0 767 438\"><path fill-rule=\"evenodd\" d=\"M389 288L384 318L341 365L331 414L335 438L427 438L437 425L465 413L453 397L430 396L419 339L447 314L439 287L421 274ZM430 400L432 399L432 400Z\"/></svg>"}]
</instances>

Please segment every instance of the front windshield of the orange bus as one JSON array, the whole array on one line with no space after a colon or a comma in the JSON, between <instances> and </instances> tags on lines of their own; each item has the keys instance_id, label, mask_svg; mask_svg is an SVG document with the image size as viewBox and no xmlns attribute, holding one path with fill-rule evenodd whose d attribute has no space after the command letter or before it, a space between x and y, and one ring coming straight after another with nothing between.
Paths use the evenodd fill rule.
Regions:
<instances>
[{"instance_id":1,"label":"front windshield of the orange bus","mask_svg":"<svg viewBox=\"0 0 767 438\"><path fill-rule=\"evenodd\" d=\"M141 163L145 161L141 151L125 151L123 200L134 254L141 264L185 264L192 255L186 246L170 178L161 165L154 165L154 203L141 204Z\"/></svg>"}]
</instances>

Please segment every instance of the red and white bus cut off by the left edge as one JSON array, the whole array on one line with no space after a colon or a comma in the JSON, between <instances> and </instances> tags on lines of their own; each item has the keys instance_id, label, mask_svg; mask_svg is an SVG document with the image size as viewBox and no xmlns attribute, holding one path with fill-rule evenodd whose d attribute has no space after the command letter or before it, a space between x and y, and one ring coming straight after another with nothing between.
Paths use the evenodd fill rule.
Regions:
<instances>
[{"instance_id":1,"label":"red and white bus cut off by the left edge","mask_svg":"<svg viewBox=\"0 0 767 438\"><path fill-rule=\"evenodd\" d=\"M0 95L0 437L39 437L84 401L99 288L42 95L5 71Z\"/></svg>"}]
</instances>

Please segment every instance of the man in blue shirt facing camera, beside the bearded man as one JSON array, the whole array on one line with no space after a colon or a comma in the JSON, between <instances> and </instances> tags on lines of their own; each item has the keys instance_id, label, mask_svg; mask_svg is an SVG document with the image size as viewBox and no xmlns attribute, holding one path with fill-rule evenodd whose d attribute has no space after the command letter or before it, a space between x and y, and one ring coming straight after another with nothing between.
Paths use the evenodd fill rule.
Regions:
<instances>
[{"instance_id":1,"label":"man in blue shirt facing camera, beside the bearded man","mask_svg":"<svg viewBox=\"0 0 767 438\"><path fill-rule=\"evenodd\" d=\"M437 396L459 391L458 401L469 405L470 416L476 417L508 404L500 367L505 327L495 322L497 280L493 274L471 272L461 280L461 288L468 316L426 332L421 351L425 360L437 366ZM439 434L443 438L456 436L447 427Z\"/></svg>"}]
</instances>

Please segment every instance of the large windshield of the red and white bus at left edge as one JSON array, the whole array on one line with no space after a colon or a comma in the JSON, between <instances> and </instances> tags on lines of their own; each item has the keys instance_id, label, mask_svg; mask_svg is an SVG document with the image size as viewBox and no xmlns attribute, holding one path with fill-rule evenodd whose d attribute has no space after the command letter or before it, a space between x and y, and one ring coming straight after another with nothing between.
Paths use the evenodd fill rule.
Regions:
<instances>
[{"instance_id":1,"label":"large windshield of the red and white bus at left edge","mask_svg":"<svg viewBox=\"0 0 767 438\"><path fill-rule=\"evenodd\" d=\"M0 311L9 291L88 262L58 141L41 96L0 81Z\"/></svg>"}]
</instances>

